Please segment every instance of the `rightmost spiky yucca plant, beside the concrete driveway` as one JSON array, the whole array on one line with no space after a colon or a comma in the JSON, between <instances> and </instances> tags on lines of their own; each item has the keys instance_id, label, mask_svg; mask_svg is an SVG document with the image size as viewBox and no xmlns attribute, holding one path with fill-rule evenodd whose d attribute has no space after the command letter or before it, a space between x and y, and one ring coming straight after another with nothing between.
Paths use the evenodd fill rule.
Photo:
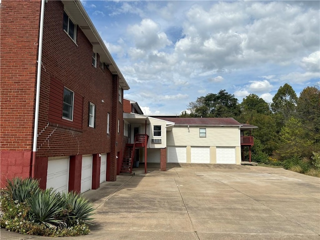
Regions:
<instances>
[{"instance_id":1,"label":"rightmost spiky yucca plant, beside the concrete driveway","mask_svg":"<svg viewBox=\"0 0 320 240\"><path fill-rule=\"evenodd\" d=\"M93 205L80 194L70 191L62 193L62 198L65 199L67 205L71 207L70 218L78 221L79 223L91 224L89 221L92 219L90 216L93 214Z\"/></svg>"}]
</instances>

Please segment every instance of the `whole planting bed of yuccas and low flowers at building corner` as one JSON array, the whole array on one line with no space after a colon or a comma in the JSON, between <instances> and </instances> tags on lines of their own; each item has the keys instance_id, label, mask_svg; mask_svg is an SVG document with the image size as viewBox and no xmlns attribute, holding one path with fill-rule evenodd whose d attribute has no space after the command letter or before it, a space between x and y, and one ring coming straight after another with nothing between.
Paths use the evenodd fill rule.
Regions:
<instances>
[{"instance_id":1,"label":"whole planting bed of yuccas and low flowers at building corner","mask_svg":"<svg viewBox=\"0 0 320 240\"><path fill-rule=\"evenodd\" d=\"M41 190L38 183L33 188L34 183L28 178L14 178L8 182L7 188L0 192L1 227L43 236L78 236L90 232L87 224L94 208L82 196L74 192L61 195L53 189ZM24 186L30 184L29 189L33 190L28 195Z\"/></svg>"}]
</instances>

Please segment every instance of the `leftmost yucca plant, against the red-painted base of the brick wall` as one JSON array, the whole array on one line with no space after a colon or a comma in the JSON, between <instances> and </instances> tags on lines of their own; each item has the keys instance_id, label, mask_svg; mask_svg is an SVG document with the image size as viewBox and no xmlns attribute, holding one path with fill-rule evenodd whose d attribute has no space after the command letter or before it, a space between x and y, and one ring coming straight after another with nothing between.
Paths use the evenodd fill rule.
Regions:
<instances>
[{"instance_id":1,"label":"leftmost yucca plant, against the red-painted base of the brick wall","mask_svg":"<svg viewBox=\"0 0 320 240\"><path fill-rule=\"evenodd\" d=\"M39 191L39 180L15 177L7 180L6 190L13 200L24 202L32 194Z\"/></svg>"}]
</instances>

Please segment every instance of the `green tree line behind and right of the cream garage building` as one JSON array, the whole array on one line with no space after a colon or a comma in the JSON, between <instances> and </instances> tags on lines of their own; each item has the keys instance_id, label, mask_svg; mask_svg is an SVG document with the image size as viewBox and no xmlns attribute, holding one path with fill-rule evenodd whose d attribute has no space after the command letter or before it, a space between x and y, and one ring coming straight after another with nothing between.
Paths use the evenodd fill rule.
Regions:
<instances>
[{"instance_id":1,"label":"green tree line behind and right of the cream garage building","mask_svg":"<svg viewBox=\"0 0 320 240\"><path fill-rule=\"evenodd\" d=\"M320 151L320 85L305 87L297 97L285 83L267 103L256 94L241 103L233 94L220 90L197 97L180 117L233 117L253 129L252 159L258 162L312 159Z\"/></svg>"}]
</instances>

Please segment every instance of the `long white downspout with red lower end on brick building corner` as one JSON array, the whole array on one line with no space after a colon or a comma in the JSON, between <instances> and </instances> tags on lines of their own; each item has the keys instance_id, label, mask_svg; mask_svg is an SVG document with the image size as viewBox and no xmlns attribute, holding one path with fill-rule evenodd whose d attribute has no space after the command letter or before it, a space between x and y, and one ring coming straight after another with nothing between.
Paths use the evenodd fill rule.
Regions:
<instances>
[{"instance_id":1,"label":"long white downspout with red lower end on brick building corner","mask_svg":"<svg viewBox=\"0 0 320 240\"><path fill-rule=\"evenodd\" d=\"M36 72L36 93L35 93L35 111L34 111L34 126L33 126L33 147L32 147L32 163L31 163L31 177L34 177L34 163L37 144L38 120L39 120L39 101L40 101L40 80L41 80L41 63L42 63L42 38L43 38L43 21L44 21L44 3L41 0L40 12L40 28L39 28L39 43L38 43L38 58L37 58L37 72Z\"/></svg>"}]
</instances>

